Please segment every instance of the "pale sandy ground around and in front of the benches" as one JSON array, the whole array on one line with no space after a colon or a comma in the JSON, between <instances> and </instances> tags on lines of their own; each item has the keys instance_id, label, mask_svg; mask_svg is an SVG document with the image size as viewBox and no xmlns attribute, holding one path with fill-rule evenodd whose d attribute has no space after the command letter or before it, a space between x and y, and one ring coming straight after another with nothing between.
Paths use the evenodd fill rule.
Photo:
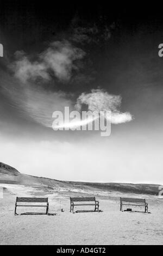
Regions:
<instances>
[{"instance_id":1,"label":"pale sandy ground around and in front of the benches","mask_svg":"<svg viewBox=\"0 0 163 256\"><path fill-rule=\"evenodd\" d=\"M70 213L70 195L82 196L78 191L45 190L21 185L3 185L0 198L0 244L1 245L162 245L163 244L163 199L146 198L149 212L120 212L121 193L96 191L103 212ZM85 191L89 194L89 191ZM90 196L92 191L90 192ZM16 196L48 196L49 212L56 216L14 216ZM64 212L61 212L61 208ZM78 208L79 209L79 208ZM80 209L81 208L80 206ZM91 209L91 206L89 206ZM19 208L23 211L38 209ZM43 209L41 209L43 210ZM74 210L77 210L74 209ZM136 209L135 209L136 210Z\"/></svg>"}]
</instances>

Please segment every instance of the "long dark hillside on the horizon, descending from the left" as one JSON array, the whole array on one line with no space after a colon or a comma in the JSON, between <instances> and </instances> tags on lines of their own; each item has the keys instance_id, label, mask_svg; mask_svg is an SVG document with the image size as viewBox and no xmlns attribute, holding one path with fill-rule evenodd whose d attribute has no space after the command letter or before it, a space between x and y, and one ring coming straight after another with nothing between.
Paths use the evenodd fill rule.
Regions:
<instances>
[{"instance_id":1,"label":"long dark hillside on the horizon, descending from the left","mask_svg":"<svg viewBox=\"0 0 163 256\"><path fill-rule=\"evenodd\" d=\"M76 181L60 181L48 178L41 178L21 174L15 168L8 164L0 162L0 183L19 184L27 186L47 186L53 188L78 188L87 190L101 191L117 191L137 194L153 194L158 195L159 185L155 184L127 184L127 183L96 183L96 182L76 182Z\"/></svg>"}]
</instances>

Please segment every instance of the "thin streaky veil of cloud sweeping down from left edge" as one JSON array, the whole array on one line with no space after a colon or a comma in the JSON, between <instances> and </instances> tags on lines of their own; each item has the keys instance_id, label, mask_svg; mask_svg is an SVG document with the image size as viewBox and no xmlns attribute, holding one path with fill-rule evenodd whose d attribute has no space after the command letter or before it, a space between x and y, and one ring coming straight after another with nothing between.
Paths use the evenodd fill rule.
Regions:
<instances>
[{"instance_id":1,"label":"thin streaky veil of cloud sweeping down from left edge","mask_svg":"<svg viewBox=\"0 0 163 256\"><path fill-rule=\"evenodd\" d=\"M64 112L65 106L73 108L70 94L64 92L52 92L43 88L34 88L33 85L13 81L1 86L5 95L10 97L11 104L22 113L24 118L35 121L45 127L51 127L52 114L55 110Z\"/></svg>"}]
</instances>

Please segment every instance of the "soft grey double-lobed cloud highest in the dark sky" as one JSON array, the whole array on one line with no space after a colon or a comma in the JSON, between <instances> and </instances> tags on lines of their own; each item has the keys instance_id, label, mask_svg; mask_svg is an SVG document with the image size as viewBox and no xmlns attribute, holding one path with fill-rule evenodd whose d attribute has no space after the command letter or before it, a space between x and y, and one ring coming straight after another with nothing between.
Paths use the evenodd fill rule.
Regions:
<instances>
[{"instance_id":1,"label":"soft grey double-lobed cloud highest in the dark sky","mask_svg":"<svg viewBox=\"0 0 163 256\"><path fill-rule=\"evenodd\" d=\"M27 56L23 51L15 53L16 60L10 65L15 77L25 83L27 81L51 80L52 76L64 82L69 81L72 72L79 69L77 60L82 59L85 52L68 41L55 41L42 53ZM36 59L32 61L31 59Z\"/></svg>"}]
</instances>

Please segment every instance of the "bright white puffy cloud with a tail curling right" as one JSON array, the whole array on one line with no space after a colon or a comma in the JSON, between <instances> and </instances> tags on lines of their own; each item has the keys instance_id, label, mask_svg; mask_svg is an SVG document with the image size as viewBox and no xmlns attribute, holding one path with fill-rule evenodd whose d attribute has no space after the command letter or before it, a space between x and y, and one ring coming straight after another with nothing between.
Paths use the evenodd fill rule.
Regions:
<instances>
[{"instance_id":1,"label":"bright white puffy cloud with a tail curling right","mask_svg":"<svg viewBox=\"0 0 163 256\"><path fill-rule=\"evenodd\" d=\"M120 111L122 97L120 95L112 95L101 89L93 89L91 93L82 93L75 105L78 111L82 110L83 105L87 105L90 111L109 111L110 121L112 124L121 124L133 120L129 112L122 113Z\"/></svg>"}]
</instances>

